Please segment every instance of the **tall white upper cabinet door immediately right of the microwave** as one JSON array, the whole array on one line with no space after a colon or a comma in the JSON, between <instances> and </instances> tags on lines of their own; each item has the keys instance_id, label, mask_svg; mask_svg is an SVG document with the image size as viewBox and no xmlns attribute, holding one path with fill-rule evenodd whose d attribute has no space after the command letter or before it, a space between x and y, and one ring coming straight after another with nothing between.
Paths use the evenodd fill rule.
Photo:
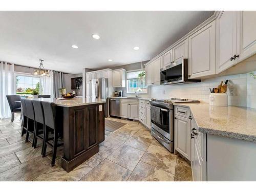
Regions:
<instances>
[{"instance_id":1,"label":"tall white upper cabinet door immediately right of the microwave","mask_svg":"<svg viewBox=\"0 0 256 192\"><path fill-rule=\"evenodd\" d=\"M216 22L211 22L188 37L188 77L216 73Z\"/></svg>"}]
</instances>

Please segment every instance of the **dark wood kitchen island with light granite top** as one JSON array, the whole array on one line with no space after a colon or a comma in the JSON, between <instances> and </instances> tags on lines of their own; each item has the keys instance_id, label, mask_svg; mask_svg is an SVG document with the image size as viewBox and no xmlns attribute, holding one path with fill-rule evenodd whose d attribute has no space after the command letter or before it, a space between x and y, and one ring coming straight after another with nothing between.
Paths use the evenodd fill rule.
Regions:
<instances>
[{"instance_id":1,"label":"dark wood kitchen island with light granite top","mask_svg":"<svg viewBox=\"0 0 256 192\"><path fill-rule=\"evenodd\" d=\"M99 143L105 139L105 99L39 100L54 102L57 117L63 122L63 169L70 172L99 152Z\"/></svg>"}]
</instances>

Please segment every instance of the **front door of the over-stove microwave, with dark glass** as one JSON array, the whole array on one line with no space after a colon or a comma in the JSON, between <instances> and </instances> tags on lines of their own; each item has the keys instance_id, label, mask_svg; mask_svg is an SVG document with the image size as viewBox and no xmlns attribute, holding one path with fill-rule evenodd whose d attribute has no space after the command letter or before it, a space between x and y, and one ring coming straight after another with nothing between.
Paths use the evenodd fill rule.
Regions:
<instances>
[{"instance_id":1,"label":"front door of the over-stove microwave, with dark glass","mask_svg":"<svg viewBox=\"0 0 256 192\"><path fill-rule=\"evenodd\" d=\"M160 84L184 82L184 63L174 62L160 70Z\"/></svg>"}]
</instances>

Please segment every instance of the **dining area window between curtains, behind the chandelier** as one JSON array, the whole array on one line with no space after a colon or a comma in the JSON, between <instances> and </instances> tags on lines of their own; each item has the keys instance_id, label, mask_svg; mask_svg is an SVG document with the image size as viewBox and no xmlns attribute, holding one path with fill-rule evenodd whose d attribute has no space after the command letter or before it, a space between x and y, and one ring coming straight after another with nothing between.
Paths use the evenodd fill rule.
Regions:
<instances>
[{"instance_id":1,"label":"dining area window between curtains, behind the chandelier","mask_svg":"<svg viewBox=\"0 0 256 192\"><path fill-rule=\"evenodd\" d=\"M16 75L16 94L31 95L33 89L40 89L40 78Z\"/></svg>"}]
</instances>

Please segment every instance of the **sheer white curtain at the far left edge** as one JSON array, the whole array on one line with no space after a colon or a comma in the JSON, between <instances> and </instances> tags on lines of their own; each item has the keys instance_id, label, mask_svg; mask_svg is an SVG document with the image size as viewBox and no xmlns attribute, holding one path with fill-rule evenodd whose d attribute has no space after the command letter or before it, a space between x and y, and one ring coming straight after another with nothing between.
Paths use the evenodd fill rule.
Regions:
<instances>
[{"instance_id":1,"label":"sheer white curtain at the far left edge","mask_svg":"<svg viewBox=\"0 0 256 192\"><path fill-rule=\"evenodd\" d=\"M11 117L11 110L6 95L14 94L14 64L0 61L0 119Z\"/></svg>"}]
</instances>

